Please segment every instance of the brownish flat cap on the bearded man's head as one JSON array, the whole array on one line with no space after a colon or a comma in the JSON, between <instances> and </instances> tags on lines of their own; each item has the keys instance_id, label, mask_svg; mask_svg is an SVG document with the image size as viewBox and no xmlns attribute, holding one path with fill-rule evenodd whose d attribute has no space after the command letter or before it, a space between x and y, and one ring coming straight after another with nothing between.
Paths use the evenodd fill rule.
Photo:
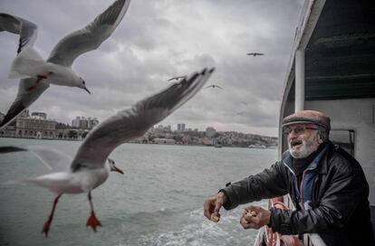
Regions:
<instances>
[{"instance_id":1,"label":"brownish flat cap on the bearded man's head","mask_svg":"<svg viewBox=\"0 0 375 246\"><path fill-rule=\"evenodd\" d=\"M298 111L283 119L283 128L295 124L315 124L322 126L327 132L331 129L331 119L316 110Z\"/></svg>"}]
</instances>

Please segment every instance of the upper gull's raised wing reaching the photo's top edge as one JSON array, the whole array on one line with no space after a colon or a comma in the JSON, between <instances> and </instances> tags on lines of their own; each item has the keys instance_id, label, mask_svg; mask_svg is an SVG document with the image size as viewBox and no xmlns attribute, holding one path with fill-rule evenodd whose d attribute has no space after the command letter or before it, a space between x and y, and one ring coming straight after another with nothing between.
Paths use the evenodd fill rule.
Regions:
<instances>
[{"instance_id":1,"label":"upper gull's raised wing reaching the photo's top edge","mask_svg":"<svg viewBox=\"0 0 375 246\"><path fill-rule=\"evenodd\" d=\"M71 67L79 55L97 49L116 29L129 4L130 0L117 0L91 24L65 36L54 46L47 61Z\"/></svg>"}]
</instances>

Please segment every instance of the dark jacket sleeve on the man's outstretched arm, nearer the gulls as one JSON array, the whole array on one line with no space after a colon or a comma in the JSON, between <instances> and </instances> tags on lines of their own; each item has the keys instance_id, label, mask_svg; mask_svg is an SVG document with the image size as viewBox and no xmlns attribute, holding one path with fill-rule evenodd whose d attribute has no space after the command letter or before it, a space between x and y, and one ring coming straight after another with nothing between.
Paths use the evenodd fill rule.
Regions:
<instances>
[{"instance_id":1,"label":"dark jacket sleeve on the man's outstretched arm, nearer the gulls","mask_svg":"<svg viewBox=\"0 0 375 246\"><path fill-rule=\"evenodd\" d=\"M264 169L262 173L250 175L221 189L220 192L227 197L227 202L223 206L226 210L230 210L239 204L287 194L288 184L285 166L277 162L270 168Z\"/></svg>"}]
</instances>

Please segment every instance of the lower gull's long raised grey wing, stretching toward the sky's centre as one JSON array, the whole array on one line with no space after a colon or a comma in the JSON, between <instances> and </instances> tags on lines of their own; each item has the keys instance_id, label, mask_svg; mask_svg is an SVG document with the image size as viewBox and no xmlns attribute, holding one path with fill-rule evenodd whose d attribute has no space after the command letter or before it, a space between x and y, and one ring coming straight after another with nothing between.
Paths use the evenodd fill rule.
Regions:
<instances>
[{"instance_id":1,"label":"lower gull's long raised grey wing, stretching toward the sky's centre","mask_svg":"<svg viewBox=\"0 0 375 246\"><path fill-rule=\"evenodd\" d=\"M147 99L140 100L131 109L125 109L103 121L85 138L72 163L72 170L82 166L101 168L111 151L135 137L141 137L149 128L168 117L200 90L214 69L194 73ZM89 166L87 166L89 165Z\"/></svg>"}]
</instances>

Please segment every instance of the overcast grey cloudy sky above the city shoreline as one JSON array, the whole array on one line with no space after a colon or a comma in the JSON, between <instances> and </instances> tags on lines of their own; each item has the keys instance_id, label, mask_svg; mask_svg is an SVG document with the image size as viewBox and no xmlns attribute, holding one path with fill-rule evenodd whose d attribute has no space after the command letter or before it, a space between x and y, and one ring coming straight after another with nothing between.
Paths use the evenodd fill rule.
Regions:
<instances>
[{"instance_id":1,"label":"overcast grey cloudy sky above the city shoreline","mask_svg":"<svg viewBox=\"0 0 375 246\"><path fill-rule=\"evenodd\" d=\"M46 59L60 39L89 24L112 2L1 0L0 12L38 25L34 48ZM223 90L202 89L161 124L276 136L302 5L303 0L132 0L111 37L72 65L92 94L52 85L30 111L63 123L76 116L103 120L166 88L171 77L216 67L207 85ZM17 35L0 33L3 113L17 92L18 80L7 79L17 46Z\"/></svg>"}]
</instances>

